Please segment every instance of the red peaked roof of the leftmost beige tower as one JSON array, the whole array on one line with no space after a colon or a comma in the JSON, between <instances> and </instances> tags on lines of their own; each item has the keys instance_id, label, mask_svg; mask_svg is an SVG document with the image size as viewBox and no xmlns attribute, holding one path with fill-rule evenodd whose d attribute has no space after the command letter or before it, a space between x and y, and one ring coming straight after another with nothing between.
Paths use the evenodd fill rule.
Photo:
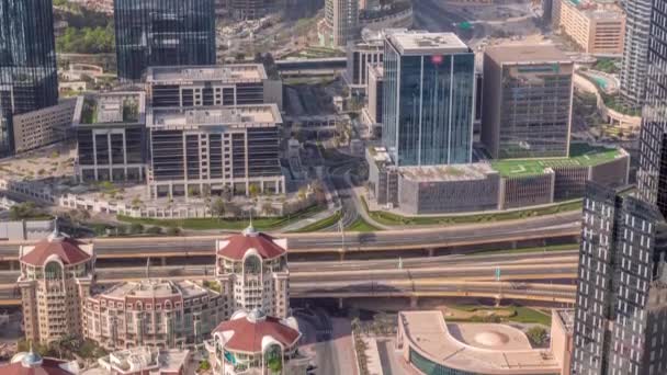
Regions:
<instances>
[{"instance_id":1,"label":"red peaked roof of the leftmost beige tower","mask_svg":"<svg viewBox=\"0 0 667 375\"><path fill-rule=\"evenodd\" d=\"M83 242L61 234L56 227L48 237L34 247L24 247L20 260L23 263L43 266L55 255L63 264L79 264L92 258L92 253L83 250L81 246Z\"/></svg>"}]
</instances>

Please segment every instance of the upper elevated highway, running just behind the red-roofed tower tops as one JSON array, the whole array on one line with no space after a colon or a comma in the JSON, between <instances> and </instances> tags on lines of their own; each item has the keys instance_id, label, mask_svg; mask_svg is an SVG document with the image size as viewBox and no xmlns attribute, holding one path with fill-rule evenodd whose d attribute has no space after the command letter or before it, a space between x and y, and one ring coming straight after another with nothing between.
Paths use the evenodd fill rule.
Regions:
<instances>
[{"instance_id":1,"label":"upper elevated highway, running just behind the red-roofed tower tops","mask_svg":"<svg viewBox=\"0 0 667 375\"><path fill-rule=\"evenodd\" d=\"M346 234L344 253L470 247L485 243L519 242L554 238L574 239L579 235L578 213L534 217L465 226L385 230ZM289 239L289 251L295 254L341 253L339 234L276 234ZM94 239L99 259L145 259L146 257L213 255L219 236L100 238ZM8 241L0 245L0 261L18 260L19 246L31 241Z\"/></svg>"}]
</instances>

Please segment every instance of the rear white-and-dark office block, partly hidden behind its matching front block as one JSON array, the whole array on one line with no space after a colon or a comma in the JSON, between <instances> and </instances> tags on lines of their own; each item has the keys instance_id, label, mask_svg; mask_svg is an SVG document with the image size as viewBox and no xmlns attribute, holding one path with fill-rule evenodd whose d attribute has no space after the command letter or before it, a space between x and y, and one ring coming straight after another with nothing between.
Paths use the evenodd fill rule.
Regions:
<instances>
[{"instance_id":1,"label":"rear white-and-dark office block, partly hidden behind its matching front block","mask_svg":"<svg viewBox=\"0 0 667 375\"><path fill-rule=\"evenodd\" d=\"M146 73L154 107L261 104L267 71L261 64L152 67Z\"/></svg>"}]
</instances>

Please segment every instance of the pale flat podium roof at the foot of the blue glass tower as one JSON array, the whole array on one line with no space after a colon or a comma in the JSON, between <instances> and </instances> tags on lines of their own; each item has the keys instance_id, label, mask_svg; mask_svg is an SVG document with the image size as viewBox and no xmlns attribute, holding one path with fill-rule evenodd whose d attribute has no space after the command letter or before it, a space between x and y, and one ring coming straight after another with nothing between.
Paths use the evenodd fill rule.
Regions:
<instances>
[{"instance_id":1,"label":"pale flat podium roof at the foot of the blue glass tower","mask_svg":"<svg viewBox=\"0 0 667 375\"><path fill-rule=\"evenodd\" d=\"M489 174L497 173L491 166L484 162L471 164L398 167L398 172L408 180L419 182L485 180Z\"/></svg>"}]
</instances>

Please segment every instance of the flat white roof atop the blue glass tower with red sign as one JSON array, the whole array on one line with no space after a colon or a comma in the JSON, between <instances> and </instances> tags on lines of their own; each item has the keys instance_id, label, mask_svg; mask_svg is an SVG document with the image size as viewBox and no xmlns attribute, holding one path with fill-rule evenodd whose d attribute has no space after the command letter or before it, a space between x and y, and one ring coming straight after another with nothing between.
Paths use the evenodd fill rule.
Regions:
<instances>
[{"instance_id":1,"label":"flat white roof atop the blue glass tower with red sign","mask_svg":"<svg viewBox=\"0 0 667 375\"><path fill-rule=\"evenodd\" d=\"M470 48L454 33L391 32L387 37L402 55L462 54Z\"/></svg>"}]
</instances>

